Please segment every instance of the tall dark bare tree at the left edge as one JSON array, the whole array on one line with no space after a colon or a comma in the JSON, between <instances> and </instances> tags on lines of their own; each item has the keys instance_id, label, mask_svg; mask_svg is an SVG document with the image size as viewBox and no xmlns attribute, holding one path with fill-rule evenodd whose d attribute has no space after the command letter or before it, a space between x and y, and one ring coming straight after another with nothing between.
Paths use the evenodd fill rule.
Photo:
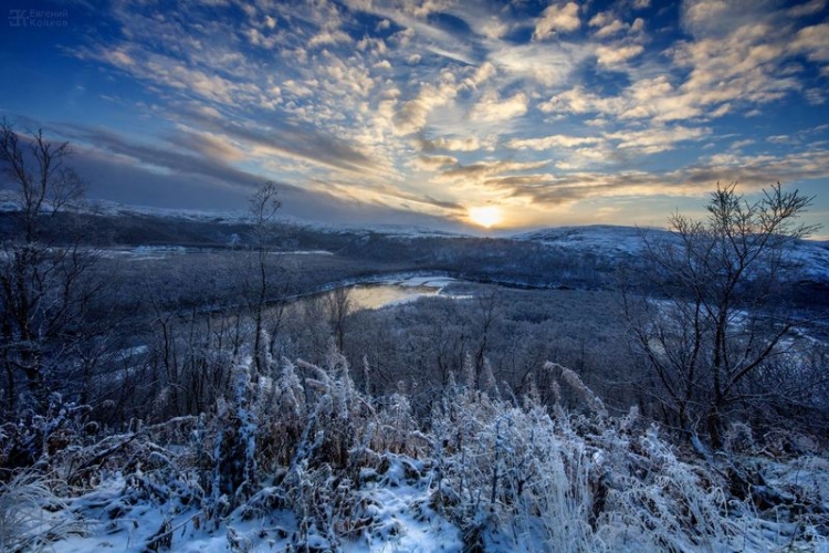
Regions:
<instances>
[{"instance_id":1,"label":"tall dark bare tree at the left edge","mask_svg":"<svg viewBox=\"0 0 829 553\"><path fill-rule=\"evenodd\" d=\"M65 380L78 353L83 320L98 291L84 279L95 255L61 218L84 191L66 166L71 153L67 143L51 143L42 131L25 137L0 122L3 184L20 197L0 253L0 364L10 409L46 406L52 385Z\"/></svg>"}]
</instances>

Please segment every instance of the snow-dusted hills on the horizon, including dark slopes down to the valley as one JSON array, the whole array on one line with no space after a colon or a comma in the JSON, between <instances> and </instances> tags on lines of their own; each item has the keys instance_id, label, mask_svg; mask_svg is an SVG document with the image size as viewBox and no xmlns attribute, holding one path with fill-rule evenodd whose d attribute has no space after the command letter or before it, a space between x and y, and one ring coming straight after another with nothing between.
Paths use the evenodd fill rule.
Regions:
<instances>
[{"instance_id":1,"label":"snow-dusted hills on the horizon, including dark slopes down to the valley","mask_svg":"<svg viewBox=\"0 0 829 553\"><path fill-rule=\"evenodd\" d=\"M0 234L3 227L11 231L13 227L3 225L3 220L19 208L14 192L0 190ZM97 247L227 249L252 243L250 216L243 210L165 209L104 200L80 204L73 210L88 216L86 236L98 240ZM464 278L542 288L601 288L620 263L637 263L642 258L643 237L652 242L674 240L663 229L607 225L481 238L414 226L339 226L281 213L274 223L280 251L339 252L355 261L397 263L393 272L428 268ZM59 231L63 228L60 219L52 225ZM105 237L106 242L101 243L98 237ZM801 240L790 253L794 265L801 270L790 273L790 280L805 283L808 289L799 295L807 298L826 290L827 243Z\"/></svg>"}]
</instances>

